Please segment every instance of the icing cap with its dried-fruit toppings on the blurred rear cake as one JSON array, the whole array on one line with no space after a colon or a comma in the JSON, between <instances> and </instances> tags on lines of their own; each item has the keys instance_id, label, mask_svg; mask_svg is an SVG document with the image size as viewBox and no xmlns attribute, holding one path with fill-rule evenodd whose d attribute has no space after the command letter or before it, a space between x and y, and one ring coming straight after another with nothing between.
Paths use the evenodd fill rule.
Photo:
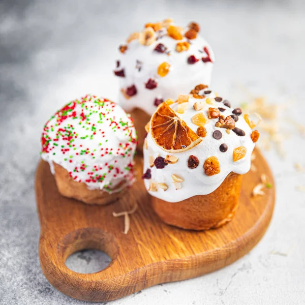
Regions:
<instances>
[{"instance_id":1,"label":"icing cap with its dried-fruit toppings on the blurred rear cake","mask_svg":"<svg viewBox=\"0 0 305 305\"><path fill-rule=\"evenodd\" d=\"M200 36L199 25L186 28L173 20L146 23L119 46L114 74L120 80L120 105L154 113L160 103L189 92L194 84L210 83L214 53Z\"/></svg>"}]
</instances>

